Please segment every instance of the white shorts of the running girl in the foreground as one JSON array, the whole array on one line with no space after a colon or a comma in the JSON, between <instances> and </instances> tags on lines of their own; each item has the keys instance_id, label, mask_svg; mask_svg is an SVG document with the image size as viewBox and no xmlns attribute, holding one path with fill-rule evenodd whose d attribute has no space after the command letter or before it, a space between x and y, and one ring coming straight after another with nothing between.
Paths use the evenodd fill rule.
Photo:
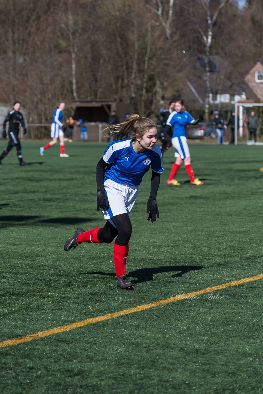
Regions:
<instances>
[{"instance_id":1,"label":"white shorts of the running girl in the foreground","mask_svg":"<svg viewBox=\"0 0 263 394\"><path fill-rule=\"evenodd\" d=\"M129 215L131 212L138 195L138 186L123 185L107 179L104 182L104 190L110 206L108 210L103 211L104 219L114 225L112 220L110 220L113 216L120 214Z\"/></svg>"}]
</instances>

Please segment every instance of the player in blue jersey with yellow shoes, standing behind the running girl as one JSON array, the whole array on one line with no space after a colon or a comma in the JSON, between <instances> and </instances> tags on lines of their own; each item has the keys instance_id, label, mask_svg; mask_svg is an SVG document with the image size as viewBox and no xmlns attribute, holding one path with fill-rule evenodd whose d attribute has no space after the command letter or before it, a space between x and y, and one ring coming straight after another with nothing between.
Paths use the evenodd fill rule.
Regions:
<instances>
[{"instance_id":1,"label":"player in blue jersey with yellow shoes, standing behind the running girl","mask_svg":"<svg viewBox=\"0 0 263 394\"><path fill-rule=\"evenodd\" d=\"M203 185L203 182L194 176L186 137L187 123L195 125L196 123L200 122L201 119L199 117L198 119L194 120L189 112L184 111L183 100L176 100L174 108L175 110L168 117L164 129L164 134L166 135L172 128L172 145L175 149L176 157L167 183L168 185L173 186L180 185L180 183L175 179L175 175L177 174L181 164L184 162L185 169L190 178L190 184L197 186Z\"/></svg>"}]
</instances>

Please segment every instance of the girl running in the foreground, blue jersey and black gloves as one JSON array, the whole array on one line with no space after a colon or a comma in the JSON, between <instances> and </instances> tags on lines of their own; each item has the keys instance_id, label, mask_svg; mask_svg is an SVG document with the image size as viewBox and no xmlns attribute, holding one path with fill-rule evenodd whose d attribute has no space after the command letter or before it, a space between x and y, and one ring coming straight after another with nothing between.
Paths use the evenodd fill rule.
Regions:
<instances>
[{"instance_id":1,"label":"girl running in the foreground, blue jersey and black gloves","mask_svg":"<svg viewBox=\"0 0 263 394\"><path fill-rule=\"evenodd\" d=\"M103 210L106 224L91 231L77 229L64 245L64 250L76 248L78 243L110 243L116 238L114 265L117 286L132 288L126 277L125 264L129 251L132 225L129 218L142 177L152 169L151 191L147 201L147 220L159 217L156 196L163 172L162 154L155 145L157 126L151 119L131 115L129 119L110 128L112 142L97 164L97 210ZM105 171L106 170L106 171Z\"/></svg>"}]
</instances>

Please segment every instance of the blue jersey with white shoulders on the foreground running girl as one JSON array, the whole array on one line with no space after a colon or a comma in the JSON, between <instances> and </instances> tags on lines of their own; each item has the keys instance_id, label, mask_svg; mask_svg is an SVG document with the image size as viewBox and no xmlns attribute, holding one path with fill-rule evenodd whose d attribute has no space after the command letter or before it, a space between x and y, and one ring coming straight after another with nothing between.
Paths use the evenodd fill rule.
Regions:
<instances>
[{"instance_id":1,"label":"blue jersey with white shoulders on the foreground running girl","mask_svg":"<svg viewBox=\"0 0 263 394\"><path fill-rule=\"evenodd\" d=\"M154 145L153 149L136 153L132 147L132 139L112 141L104 152L103 160L108 164L104 181L111 179L131 186L140 185L142 177L150 167L159 174L164 170L159 147Z\"/></svg>"}]
</instances>

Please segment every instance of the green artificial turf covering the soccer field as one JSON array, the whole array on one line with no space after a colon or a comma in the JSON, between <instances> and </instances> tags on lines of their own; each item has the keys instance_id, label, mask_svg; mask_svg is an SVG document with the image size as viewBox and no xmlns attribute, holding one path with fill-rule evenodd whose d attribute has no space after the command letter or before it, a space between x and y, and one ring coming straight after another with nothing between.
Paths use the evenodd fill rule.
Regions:
<instances>
[{"instance_id":1,"label":"green artificial turf covering the soccer field","mask_svg":"<svg viewBox=\"0 0 263 394\"><path fill-rule=\"evenodd\" d=\"M147 221L151 173L131 212L127 273L116 287L113 245L64 242L104 225L95 169L105 143L22 143L0 166L0 342L262 273L263 147L190 145L203 186L183 167ZM0 150L5 147L0 141ZM262 279L0 349L0 392L256 393L262 390Z\"/></svg>"}]
</instances>

